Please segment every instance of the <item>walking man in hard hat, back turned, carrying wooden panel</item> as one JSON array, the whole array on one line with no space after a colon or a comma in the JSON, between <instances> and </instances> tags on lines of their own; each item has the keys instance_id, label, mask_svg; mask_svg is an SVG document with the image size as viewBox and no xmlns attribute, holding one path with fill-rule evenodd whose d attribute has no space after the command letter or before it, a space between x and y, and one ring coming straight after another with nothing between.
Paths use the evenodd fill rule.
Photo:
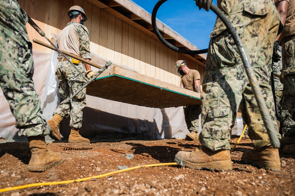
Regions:
<instances>
[{"instance_id":1,"label":"walking man in hard hat, back turned, carrying wooden panel","mask_svg":"<svg viewBox=\"0 0 295 196\"><path fill-rule=\"evenodd\" d=\"M72 6L68 11L71 21L60 31L57 42L58 47L64 51L75 54L87 61L91 60L89 46L89 32L84 26L87 16L80 6ZM59 93L65 99L58 105L53 113L53 118L48 120L50 126L50 137L60 140L61 136L58 132L58 125L63 118L70 115L71 134L69 135L69 143L89 143L89 139L83 138L79 134L79 128L82 126L83 108L86 107L86 88L78 93L74 98L66 101L73 93L80 89L86 80L81 73L86 69L86 77L89 79L96 73L91 70L90 65L82 63L74 58L68 57L72 63L78 68L80 73L69 63L62 55L58 56L58 64L56 67L56 76L59 80Z\"/></svg>"}]
</instances>

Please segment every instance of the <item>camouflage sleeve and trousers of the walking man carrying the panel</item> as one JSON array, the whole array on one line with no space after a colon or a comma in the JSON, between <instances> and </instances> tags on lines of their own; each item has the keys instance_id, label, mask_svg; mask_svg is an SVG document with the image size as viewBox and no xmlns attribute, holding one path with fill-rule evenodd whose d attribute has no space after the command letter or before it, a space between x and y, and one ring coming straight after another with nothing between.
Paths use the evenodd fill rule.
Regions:
<instances>
[{"instance_id":1,"label":"camouflage sleeve and trousers of the walking man carrying the panel","mask_svg":"<svg viewBox=\"0 0 295 196\"><path fill-rule=\"evenodd\" d=\"M76 31L79 34L80 39L80 56L84 59L91 59L90 46L89 46L89 32L87 28L77 22L70 22L67 24L73 24ZM74 64L79 71L84 74L84 65L82 62ZM63 99L69 98L74 92L81 88L86 80L79 74L78 71L68 61L61 61L56 67L56 76L59 80L59 93ZM70 126L72 128L81 128L83 108L86 107L86 88L78 93L74 98L69 101L63 101L58 105L54 114L59 114L63 118L70 115Z\"/></svg>"}]
</instances>

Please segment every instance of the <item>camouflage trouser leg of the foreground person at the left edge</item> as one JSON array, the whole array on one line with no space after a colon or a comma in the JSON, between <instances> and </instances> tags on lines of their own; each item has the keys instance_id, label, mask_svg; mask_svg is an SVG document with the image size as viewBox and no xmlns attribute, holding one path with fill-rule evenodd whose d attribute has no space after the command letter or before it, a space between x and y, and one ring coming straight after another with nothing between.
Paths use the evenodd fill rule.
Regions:
<instances>
[{"instance_id":1,"label":"camouflage trouser leg of the foreground person at the left edge","mask_svg":"<svg viewBox=\"0 0 295 196\"><path fill-rule=\"evenodd\" d=\"M27 21L27 14L16 0L0 0L0 86L19 136L45 136L49 127L32 80L34 65Z\"/></svg>"}]
</instances>

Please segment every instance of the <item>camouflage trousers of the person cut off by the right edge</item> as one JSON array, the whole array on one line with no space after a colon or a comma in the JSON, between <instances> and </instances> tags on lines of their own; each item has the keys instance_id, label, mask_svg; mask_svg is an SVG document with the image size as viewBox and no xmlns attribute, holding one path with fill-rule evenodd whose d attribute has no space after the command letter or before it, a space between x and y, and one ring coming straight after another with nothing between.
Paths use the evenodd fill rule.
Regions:
<instances>
[{"instance_id":1,"label":"camouflage trousers of the person cut off by the right edge","mask_svg":"<svg viewBox=\"0 0 295 196\"><path fill-rule=\"evenodd\" d=\"M295 135L295 39L284 43L282 47L283 60L283 98L282 120L284 128L282 132L287 135Z\"/></svg>"}]
</instances>

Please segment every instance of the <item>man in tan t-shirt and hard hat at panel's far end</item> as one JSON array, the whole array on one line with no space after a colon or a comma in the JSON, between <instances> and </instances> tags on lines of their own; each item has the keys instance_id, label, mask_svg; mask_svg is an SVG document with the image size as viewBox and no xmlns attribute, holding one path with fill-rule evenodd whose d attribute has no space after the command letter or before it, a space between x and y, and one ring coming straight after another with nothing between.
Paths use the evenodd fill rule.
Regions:
<instances>
[{"instance_id":1,"label":"man in tan t-shirt and hard hat at panel's far end","mask_svg":"<svg viewBox=\"0 0 295 196\"><path fill-rule=\"evenodd\" d=\"M186 61L178 60L175 68L181 75L180 87L190 91L201 93L200 73L196 70L189 69ZM197 140L199 138L199 115L202 112L201 105L183 106L184 120L190 133L186 134L186 140Z\"/></svg>"}]
</instances>

